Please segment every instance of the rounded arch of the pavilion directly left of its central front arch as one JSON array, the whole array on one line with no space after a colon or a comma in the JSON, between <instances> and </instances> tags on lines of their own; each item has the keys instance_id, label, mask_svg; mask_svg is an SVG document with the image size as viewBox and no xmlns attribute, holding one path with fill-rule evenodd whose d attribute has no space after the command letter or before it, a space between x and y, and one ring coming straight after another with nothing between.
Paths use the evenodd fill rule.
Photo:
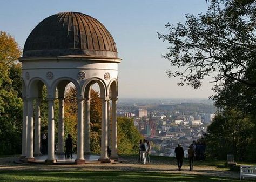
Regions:
<instances>
[{"instance_id":1,"label":"rounded arch of the pavilion directly left of its central front arch","mask_svg":"<svg viewBox=\"0 0 256 182\"><path fill-rule=\"evenodd\" d=\"M47 93L49 95L49 85L44 79L35 77L32 78L28 84L27 98L39 98L42 97L43 86L46 86Z\"/></svg>"}]
</instances>

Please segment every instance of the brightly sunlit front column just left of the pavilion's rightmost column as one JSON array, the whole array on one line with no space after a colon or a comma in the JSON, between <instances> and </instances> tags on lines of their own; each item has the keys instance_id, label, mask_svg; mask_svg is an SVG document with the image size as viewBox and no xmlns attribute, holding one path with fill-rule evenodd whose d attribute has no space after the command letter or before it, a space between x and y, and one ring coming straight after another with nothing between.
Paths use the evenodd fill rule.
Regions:
<instances>
[{"instance_id":1,"label":"brightly sunlit front column just left of the pavilion's rightmost column","mask_svg":"<svg viewBox=\"0 0 256 182\"><path fill-rule=\"evenodd\" d=\"M107 157L107 101L102 99L102 141L99 161L107 163L110 159Z\"/></svg>"}]
</instances>

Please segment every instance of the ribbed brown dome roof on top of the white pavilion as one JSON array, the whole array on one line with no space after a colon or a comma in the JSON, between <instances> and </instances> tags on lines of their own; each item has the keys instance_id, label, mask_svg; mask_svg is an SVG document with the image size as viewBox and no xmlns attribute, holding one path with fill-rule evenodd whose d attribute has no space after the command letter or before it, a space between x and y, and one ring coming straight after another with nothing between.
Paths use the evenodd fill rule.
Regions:
<instances>
[{"instance_id":1,"label":"ribbed brown dome roof on top of the white pavilion","mask_svg":"<svg viewBox=\"0 0 256 182\"><path fill-rule=\"evenodd\" d=\"M116 43L105 26L79 12L60 12L45 18L26 39L23 57L118 58Z\"/></svg>"}]
</instances>

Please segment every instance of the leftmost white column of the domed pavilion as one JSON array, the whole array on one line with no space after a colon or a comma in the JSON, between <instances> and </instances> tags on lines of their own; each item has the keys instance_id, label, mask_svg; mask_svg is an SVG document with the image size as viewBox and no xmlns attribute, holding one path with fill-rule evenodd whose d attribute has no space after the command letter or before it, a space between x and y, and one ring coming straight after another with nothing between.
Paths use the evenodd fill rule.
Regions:
<instances>
[{"instance_id":1,"label":"leftmost white column of the domed pavilion","mask_svg":"<svg viewBox=\"0 0 256 182\"><path fill-rule=\"evenodd\" d=\"M28 138L28 101L23 98L23 123L22 123L22 155L26 157L26 141Z\"/></svg>"}]
</instances>

